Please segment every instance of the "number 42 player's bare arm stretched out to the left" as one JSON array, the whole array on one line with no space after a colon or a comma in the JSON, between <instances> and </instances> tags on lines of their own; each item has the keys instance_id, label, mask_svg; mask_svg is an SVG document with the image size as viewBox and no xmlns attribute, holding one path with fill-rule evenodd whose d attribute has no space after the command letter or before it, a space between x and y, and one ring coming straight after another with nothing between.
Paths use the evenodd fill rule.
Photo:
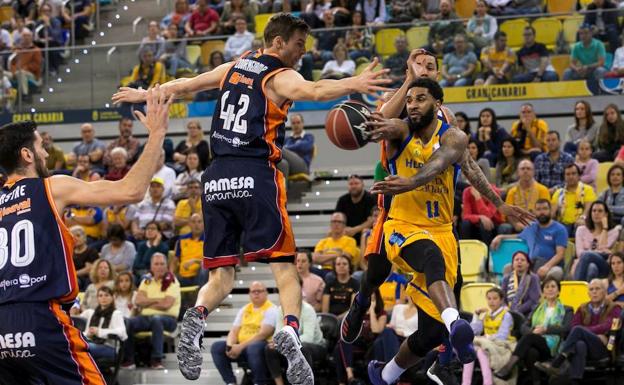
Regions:
<instances>
[{"instance_id":1,"label":"number 42 player's bare arm stretched out to the left","mask_svg":"<svg viewBox=\"0 0 624 385\"><path fill-rule=\"evenodd\" d=\"M180 78L168 81L160 86L161 92L164 92L165 96L169 97L170 95L183 96L194 92L219 88L221 79L223 79L231 65L232 63L224 63L212 71L204 72L194 78ZM112 101L115 104L143 103L146 98L146 90L120 87L119 91L113 94Z\"/></svg>"}]
</instances>

